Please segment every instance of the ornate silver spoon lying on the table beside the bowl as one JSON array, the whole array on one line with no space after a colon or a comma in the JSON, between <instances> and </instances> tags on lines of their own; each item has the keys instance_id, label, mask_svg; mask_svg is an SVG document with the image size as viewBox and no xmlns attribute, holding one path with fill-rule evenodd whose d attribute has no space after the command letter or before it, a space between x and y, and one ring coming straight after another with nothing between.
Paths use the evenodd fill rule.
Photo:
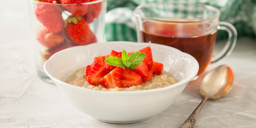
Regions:
<instances>
[{"instance_id":1,"label":"ornate silver spoon lying on the table beside the bowl","mask_svg":"<svg viewBox=\"0 0 256 128\"><path fill-rule=\"evenodd\" d=\"M180 128L195 127L196 118L206 101L208 99L218 99L226 95L231 90L233 79L233 71L227 65L221 65L207 73L200 85L200 93L204 96L204 99Z\"/></svg>"}]
</instances>

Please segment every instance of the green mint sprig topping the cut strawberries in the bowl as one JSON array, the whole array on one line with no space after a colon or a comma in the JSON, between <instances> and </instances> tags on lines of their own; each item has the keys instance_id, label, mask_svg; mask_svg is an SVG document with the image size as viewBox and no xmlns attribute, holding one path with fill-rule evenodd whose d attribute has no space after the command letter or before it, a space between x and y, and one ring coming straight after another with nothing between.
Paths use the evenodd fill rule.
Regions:
<instances>
[{"instance_id":1,"label":"green mint sprig topping the cut strawberries in the bowl","mask_svg":"<svg viewBox=\"0 0 256 128\"><path fill-rule=\"evenodd\" d=\"M134 52L130 55L127 54L125 50L122 52L122 59L118 57L108 57L105 59L106 63L111 66L119 66L123 69L135 69L137 68L142 60L145 58L145 53Z\"/></svg>"}]
</instances>

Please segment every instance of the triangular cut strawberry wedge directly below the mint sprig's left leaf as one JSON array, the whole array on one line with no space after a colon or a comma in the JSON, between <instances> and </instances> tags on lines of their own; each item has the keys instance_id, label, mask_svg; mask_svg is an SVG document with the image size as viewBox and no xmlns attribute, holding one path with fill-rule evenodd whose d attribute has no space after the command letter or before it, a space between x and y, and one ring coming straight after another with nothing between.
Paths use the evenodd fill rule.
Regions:
<instances>
[{"instance_id":1,"label":"triangular cut strawberry wedge directly below the mint sprig's left leaf","mask_svg":"<svg viewBox=\"0 0 256 128\"><path fill-rule=\"evenodd\" d=\"M106 76L101 78L99 83L101 83L107 89L121 87L120 78L121 68L116 67L115 69L111 70Z\"/></svg>"}]
</instances>

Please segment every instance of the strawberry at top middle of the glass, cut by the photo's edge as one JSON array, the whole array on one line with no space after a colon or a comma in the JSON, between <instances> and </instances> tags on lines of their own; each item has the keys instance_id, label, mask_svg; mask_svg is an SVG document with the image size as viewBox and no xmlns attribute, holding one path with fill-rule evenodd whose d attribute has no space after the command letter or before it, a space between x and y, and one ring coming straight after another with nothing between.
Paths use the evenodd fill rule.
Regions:
<instances>
[{"instance_id":1,"label":"strawberry at top middle of the glass, cut by the photo's edge","mask_svg":"<svg viewBox=\"0 0 256 128\"><path fill-rule=\"evenodd\" d=\"M82 4L88 2L88 0L60 0L65 5L66 9L75 16L85 15L87 13L87 5Z\"/></svg>"}]
</instances>

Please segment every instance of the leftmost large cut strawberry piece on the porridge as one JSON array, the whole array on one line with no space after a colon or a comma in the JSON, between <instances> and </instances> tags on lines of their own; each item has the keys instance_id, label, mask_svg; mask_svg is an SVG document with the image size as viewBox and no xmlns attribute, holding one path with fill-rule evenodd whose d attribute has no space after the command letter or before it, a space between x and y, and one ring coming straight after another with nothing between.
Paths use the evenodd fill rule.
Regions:
<instances>
[{"instance_id":1,"label":"leftmost large cut strawberry piece on the porridge","mask_svg":"<svg viewBox=\"0 0 256 128\"><path fill-rule=\"evenodd\" d=\"M93 63L91 71L87 75L87 82L91 85L97 85L102 77L107 74L107 71L104 69L103 58L100 56Z\"/></svg>"}]
</instances>

